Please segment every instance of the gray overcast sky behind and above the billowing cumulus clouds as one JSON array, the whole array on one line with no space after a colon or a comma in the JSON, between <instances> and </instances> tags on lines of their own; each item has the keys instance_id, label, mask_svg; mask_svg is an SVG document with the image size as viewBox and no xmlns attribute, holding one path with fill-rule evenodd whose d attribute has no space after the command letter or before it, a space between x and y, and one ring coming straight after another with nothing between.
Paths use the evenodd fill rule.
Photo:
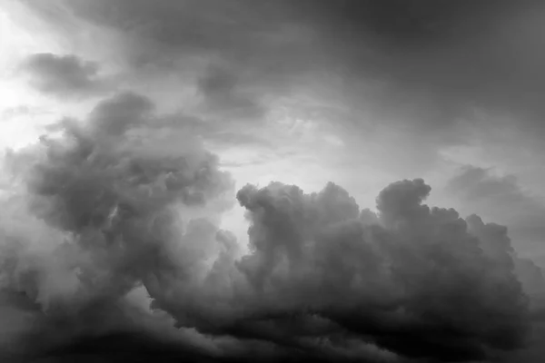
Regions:
<instances>
[{"instance_id":1,"label":"gray overcast sky behind and above the billowing cumulus clouds","mask_svg":"<svg viewBox=\"0 0 545 363\"><path fill-rule=\"evenodd\" d=\"M544 20L545 4L530 0L1 0L0 143L24 150L58 120L80 120L108 157L139 137L161 147L138 160L168 170L180 166L164 160L191 151L213 172L183 203L225 187L233 195L213 204L214 223L250 249L258 217L243 214L277 191L236 202L246 183L310 193L335 182L387 220L381 191L422 178L426 203L507 226L518 255L544 264ZM133 129L131 142L116 139ZM394 201L426 198L397 188Z\"/></svg>"}]
</instances>

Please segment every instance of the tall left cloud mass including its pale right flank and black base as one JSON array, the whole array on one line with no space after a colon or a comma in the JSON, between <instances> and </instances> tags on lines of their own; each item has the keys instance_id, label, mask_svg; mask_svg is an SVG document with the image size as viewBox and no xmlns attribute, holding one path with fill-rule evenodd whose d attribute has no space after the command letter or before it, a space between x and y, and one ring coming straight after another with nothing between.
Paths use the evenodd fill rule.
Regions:
<instances>
[{"instance_id":1,"label":"tall left cloud mass including its pale right flank and black base","mask_svg":"<svg viewBox=\"0 0 545 363\"><path fill-rule=\"evenodd\" d=\"M8 358L111 361L138 353L195 361L319 361L318 351L327 360L381 356L350 342L339 347L312 338L256 338L259 325L252 322L249 329L228 329L238 320L232 309L240 296L229 281L242 277L234 263L240 251L217 223L233 184L217 169L215 156L169 121L145 97L119 93L98 103L84 122L64 120L56 134L9 155L14 179L4 196L0 245L9 299L2 302L30 311L32 319L6 332ZM153 311L134 309L127 300L143 286L154 299ZM168 319L164 327L154 318L162 310L176 317L185 335ZM188 337L193 328L213 338L197 332ZM195 339L200 344L192 348ZM134 341L141 350L126 352Z\"/></svg>"}]
</instances>

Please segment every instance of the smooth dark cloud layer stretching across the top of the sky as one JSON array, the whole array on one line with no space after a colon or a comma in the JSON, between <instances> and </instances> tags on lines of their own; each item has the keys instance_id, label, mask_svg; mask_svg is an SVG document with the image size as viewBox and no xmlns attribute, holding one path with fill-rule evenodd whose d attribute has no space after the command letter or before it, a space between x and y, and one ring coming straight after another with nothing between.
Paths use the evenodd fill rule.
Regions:
<instances>
[{"instance_id":1,"label":"smooth dark cloud layer stretching across the top of the sky","mask_svg":"<svg viewBox=\"0 0 545 363\"><path fill-rule=\"evenodd\" d=\"M532 1L161 1L27 2L59 27L54 5L123 42L116 51L139 73L189 70L204 111L263 120L270 101L310 94L341 104L348 140L401 134L393 153L425 172L445 145L471 141L475 109L517 120L541 137L543 7ZM197 64L197 65L195 65ZM193 82L192 81L192 82ZM312 107L311 107L312 108ZM464 120L471 119L474 123ZM476 125L475 123L479 123ZM535 142L539 142L536 138ZM419 162L411 162L418 160ZM405 171L408 175L409 171Z\"/></svg>"}]
</instances>

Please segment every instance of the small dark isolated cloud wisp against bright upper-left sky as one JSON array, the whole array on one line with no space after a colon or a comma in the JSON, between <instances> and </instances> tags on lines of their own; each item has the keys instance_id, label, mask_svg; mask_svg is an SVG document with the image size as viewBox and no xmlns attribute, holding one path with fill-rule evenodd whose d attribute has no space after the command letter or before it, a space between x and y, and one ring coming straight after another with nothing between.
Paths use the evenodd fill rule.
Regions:
<instances>
[{"instance_id":1,"label":"small dark isolated cloud wisp against bright upper-left sky","mask_svg":"<svg viewBox=\"0 0 545 363\"><path fill-rule=\"evenodd\" d=\"M34 86L43 93L85 97L107 89L99 66L75 55L34 54L23 64Z\"/></svg>"}]
</instances>

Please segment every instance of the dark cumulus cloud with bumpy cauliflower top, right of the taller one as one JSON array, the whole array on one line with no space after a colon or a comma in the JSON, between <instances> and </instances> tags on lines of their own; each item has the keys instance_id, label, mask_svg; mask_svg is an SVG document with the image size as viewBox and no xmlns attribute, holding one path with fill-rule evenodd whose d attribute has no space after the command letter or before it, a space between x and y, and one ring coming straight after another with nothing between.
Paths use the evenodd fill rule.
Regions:
<instances>
[{"instance_id":1,"label":"dark cumulus cloud with bumpy cauliflower top, right of the taller one","mask_svg":"<svg viewBox=\"0 0 545 363\"><path fill-rule=\"evenodd\" d=\"M312 195L247 187L238 198L252 211L254 252L241 269L267 309L310 309L401 355L463 360L482 358L482 347L515 347L525 309L512 260L501 262L510 260L509 245L500 256L483 253L498 238L495 227L472 233L456 211L421 204L429 191L421 180L391 184L377 200L380 224L366 228L357 204L333 184ZM506 304L492 308L497 289ZM511 318L484 321L492 316Z\"/></svg>"}]
</instances>

